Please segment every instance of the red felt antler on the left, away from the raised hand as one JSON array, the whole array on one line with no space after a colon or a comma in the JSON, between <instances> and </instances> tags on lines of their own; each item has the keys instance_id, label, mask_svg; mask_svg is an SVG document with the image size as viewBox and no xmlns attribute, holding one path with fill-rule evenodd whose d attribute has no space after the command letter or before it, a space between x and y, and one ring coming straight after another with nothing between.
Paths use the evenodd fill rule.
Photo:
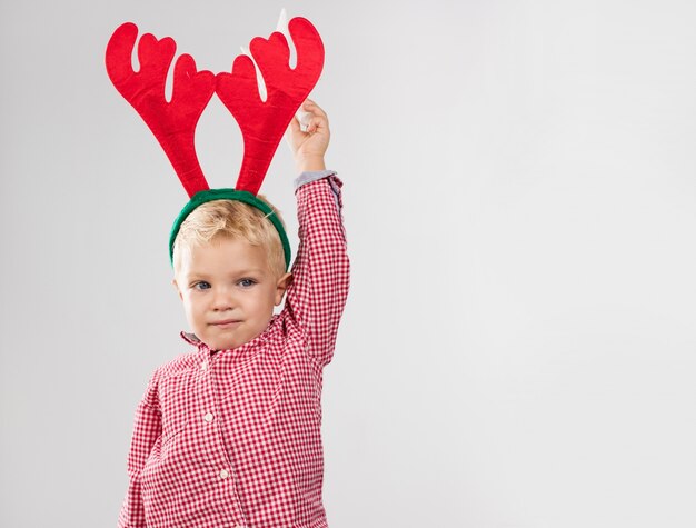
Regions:
<instances>
[{"instance_id":1,"label":"red felt antler on the left, away from the raised hand","mask_svg":"<svg viewBox=\"0 0 696 528\"><path fill-rule=\"evenodd\" d=\"M208 189L196 149L196 124L215 91L215 76L196 71L196 62L182 54L175 64L171 102L165 99L165 81L177 44L167 37L157 40L147 33L138 46L140 71L133 71L131 54L138 28L126 22L107 46L107 72L116 89L132 104L165 149L186 192L192 197Z\"/></svg>"}]
</instances>

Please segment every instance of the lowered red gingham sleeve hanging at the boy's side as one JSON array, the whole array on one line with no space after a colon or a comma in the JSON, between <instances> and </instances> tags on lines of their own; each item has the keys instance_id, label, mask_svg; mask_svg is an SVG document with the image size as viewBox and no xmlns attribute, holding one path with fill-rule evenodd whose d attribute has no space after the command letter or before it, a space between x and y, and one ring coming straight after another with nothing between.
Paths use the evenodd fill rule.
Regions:
<instances>
[{"instance_id":1,"label":"lowered red gingham sleeve hanging at the boy's side","mask_svg":"<svg viewBox=\"0 0 696 528\"><path fill-rule=\"evenodd\" d=\"M140 476L152 446L162 432L157 378L156 371L136 410L128 454L128 490L119 514L118 528L146 528Z\"/></svg>"}]
</instances>

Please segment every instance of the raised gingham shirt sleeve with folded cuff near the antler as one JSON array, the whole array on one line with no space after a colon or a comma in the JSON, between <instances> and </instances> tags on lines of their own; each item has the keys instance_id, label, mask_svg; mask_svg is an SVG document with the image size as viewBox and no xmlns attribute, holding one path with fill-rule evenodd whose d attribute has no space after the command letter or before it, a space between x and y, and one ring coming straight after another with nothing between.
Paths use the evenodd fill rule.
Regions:
<instances>
[{"instance_id":1,"label":"raised gingham shirt sleeve with folded cuff near the antler","mask_svg":"<svg viewBox=\"0 0 696 528\"><path fill-rule=\"evenodd\" d=\"M334 172L296 190L299 248L286 308L302 331L307 352L321 366L334 356L336 335L348 297L349 260L340 195Z\"/></svg>"}]
</instances>

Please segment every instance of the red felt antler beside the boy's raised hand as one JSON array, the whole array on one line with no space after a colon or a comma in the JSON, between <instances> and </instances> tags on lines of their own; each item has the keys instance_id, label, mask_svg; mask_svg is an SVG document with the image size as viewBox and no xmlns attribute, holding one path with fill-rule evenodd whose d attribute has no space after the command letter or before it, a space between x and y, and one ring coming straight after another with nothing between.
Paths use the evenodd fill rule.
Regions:
<instances>
[{"instance_id":1,"label":"red felt antler beside the boy's raised hand","mask_svg":"<svg viewBox=\"0 0 696 528\"><path fill-rule=\"evenodd\" d=\"M300 104L319 80L324 44L309 20L297 17L288 24L297 52L297 66L289 64L285 36L251 40L250 50L261 71L267 98L261 100L253 62L247 56L235 59L231 73L218 73L216 92L232 113L245 141L245 157L235 186L256 195L268 166Z\"/></svg>"}]
</instances>

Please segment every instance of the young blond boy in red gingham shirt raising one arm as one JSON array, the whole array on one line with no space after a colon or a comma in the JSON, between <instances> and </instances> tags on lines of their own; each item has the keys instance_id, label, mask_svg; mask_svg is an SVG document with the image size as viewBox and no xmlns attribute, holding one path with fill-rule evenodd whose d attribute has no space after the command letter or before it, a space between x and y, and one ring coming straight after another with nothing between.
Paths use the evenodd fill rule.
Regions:
<instances>
[{"instance_id":1,"label":"young blond boy in red gingham shirt raising one arm","mask_svg":"<svg viewBox=\"0 0 696 528\"><path fill-rule=\"evenodd\" d=\"M299 249L291 269L264 213L216 200L181 225L175 286L195 349L158 368L138 406L119 527L326 527L322 368L348 293L341 182L326 113L290 142ZM286 305L274 316L284 295Z\"/></svg>"}]
</instances>

